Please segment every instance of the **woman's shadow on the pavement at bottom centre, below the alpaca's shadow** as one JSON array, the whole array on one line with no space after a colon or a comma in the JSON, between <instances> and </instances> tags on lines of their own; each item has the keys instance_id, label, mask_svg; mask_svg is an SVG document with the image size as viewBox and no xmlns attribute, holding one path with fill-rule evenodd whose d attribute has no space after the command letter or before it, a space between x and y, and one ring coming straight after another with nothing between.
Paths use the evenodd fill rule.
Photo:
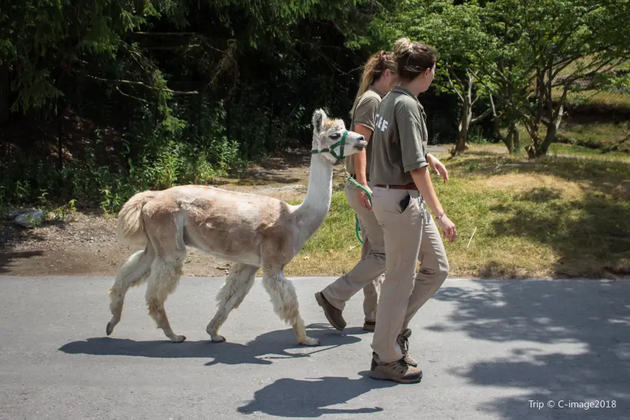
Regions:
<instances>
[{"instance_id":1,"label":"woman's shadow on the pavement at bottom centre, below the alpaca's shadow","mask_svg":"<svg viewBox=\"0 0 630 420\"><path fill-rule=\"evenodd\" d=\"M279 417L319 417L324 414L370 414L382 407L325 408L344 404L375 388L394 386L389 381L374 381L361 372L360 379L322 377L302 381L282 378L254 393L253 400L237 408L242 414L261 412Z\"/></svg>"}]
</instances>

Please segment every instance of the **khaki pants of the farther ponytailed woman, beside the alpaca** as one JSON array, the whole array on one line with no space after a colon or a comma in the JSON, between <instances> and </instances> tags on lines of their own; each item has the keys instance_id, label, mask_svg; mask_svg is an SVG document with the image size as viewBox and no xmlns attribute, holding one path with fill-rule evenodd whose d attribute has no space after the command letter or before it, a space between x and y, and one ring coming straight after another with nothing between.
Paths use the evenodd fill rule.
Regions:
<instances>
[{"instance_id":1,"label":"khaki pants of the farther ponytailed woman, beside the alpaca","mask_svg":"<svg viewBox=\"0 0 630 420\"><path fill-rule=\"evenodd\" d=\"M367 186L372 188L372 183L368 182ZM383 229L374 217L374 212L359 204L357 190L353 183L346 181L346 198L350 207L356 211L361 228L361 259L350 272L330 283L322 293L332 306L342 311L346 302L363 288L365 321L375 321L381 275L385 271Z\"/></svg>"}]
</instances>

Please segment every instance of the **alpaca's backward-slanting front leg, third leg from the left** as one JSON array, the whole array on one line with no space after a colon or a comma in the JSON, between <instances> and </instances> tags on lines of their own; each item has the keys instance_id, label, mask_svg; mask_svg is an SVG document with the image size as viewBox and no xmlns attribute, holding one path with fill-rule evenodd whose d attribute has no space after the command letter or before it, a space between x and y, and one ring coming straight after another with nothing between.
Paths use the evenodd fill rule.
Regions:
<instances>
[{"instance_id":1,"label":"alpaca's backward-slanting front leg, third leg from the left","mask_svg":"<svg viewBox=\"0 0 630 420\"><path fill-rule=\"evenodd\" d=\"M239 307L245 296L253 286L258 267L254 265L235 264L230 268L225 284L216 295L217 311L212 321L206 327L206 331L213 342L224 342L225 337L218 334L219 328L228 319L232 309Z\"/></svg>"}]
</instances>

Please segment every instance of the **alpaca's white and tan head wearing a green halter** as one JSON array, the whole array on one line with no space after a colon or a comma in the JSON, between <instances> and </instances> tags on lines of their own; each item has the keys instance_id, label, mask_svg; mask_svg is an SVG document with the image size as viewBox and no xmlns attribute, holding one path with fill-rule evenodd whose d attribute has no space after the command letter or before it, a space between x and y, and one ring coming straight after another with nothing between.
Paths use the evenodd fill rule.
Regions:
<instances>
[{"instance_id":1,"label":"alpaca's white and tan head wearing a green halter","mask_svg":"<svg viewBox=\"0 0 630 420\"><path fill-rule=\"evenodd\" d=\"M367 146L363 136L346 130L343 120L326 116L323 109L313 114L313 151L331 162L362 151Z\"/></svg>"}]
</instances>

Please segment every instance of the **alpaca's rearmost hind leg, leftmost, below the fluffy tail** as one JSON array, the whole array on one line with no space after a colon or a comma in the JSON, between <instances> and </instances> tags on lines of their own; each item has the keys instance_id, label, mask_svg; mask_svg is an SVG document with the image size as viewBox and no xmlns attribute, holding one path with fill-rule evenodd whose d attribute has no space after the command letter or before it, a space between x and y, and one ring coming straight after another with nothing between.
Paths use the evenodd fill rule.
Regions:
<instances>
[{"instance_id":1,"label":"alpaca's rearmost hind leg, leftmost, below the fluffy tail","mask_svg":"<svg viewBox=\"0 0 630 420\"><path fill-rule=\"evenodd\" d=\"M120 322L127 290L130 287L139 286L146 280L146 277L151 272L151 261L153 258L155 258L155 254L148 248L144 251L138 251L118 270L116 280L114 280L113 285L109 289L111 321L107 323L105 330L107 335L111 335L114 327Z\"/></svg>"}]
</instances>

